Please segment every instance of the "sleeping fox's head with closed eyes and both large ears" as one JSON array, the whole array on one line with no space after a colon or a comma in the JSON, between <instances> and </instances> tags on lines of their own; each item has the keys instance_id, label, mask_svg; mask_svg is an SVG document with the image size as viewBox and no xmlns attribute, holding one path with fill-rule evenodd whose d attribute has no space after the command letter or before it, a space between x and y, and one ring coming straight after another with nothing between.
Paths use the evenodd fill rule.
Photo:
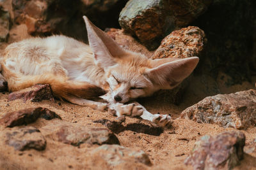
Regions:
<instances>
[{"instance_id":1,"label":"sleeping fox's head with closed eyes and both large ears","mask_svg":"<svg viewBox=\"0 0 256 170\"><path fill-rule=\"evenodd\" d=\"M95 63L104 69L115 102L126 103L160 89L173 89L198 63L198 57L152 60L124 50L87 17L83 18Z\"/></svg>"}]
</instances>

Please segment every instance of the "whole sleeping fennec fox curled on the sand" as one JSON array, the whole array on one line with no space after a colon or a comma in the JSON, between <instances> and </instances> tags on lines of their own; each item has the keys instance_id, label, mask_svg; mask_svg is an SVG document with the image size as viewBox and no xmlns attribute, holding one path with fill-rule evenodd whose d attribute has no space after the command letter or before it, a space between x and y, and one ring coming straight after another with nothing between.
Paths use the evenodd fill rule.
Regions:
<instances>
[{"instance_id":1,"label":"whole sleeping fennec fox curled on the sand","mask_svg":"<svg viewBox=\"0 0 256 170\"><path fill-rule=\"evenodd\" d=\"M30 38L7 46L1 66L8 90L49 83L54 96L70 103L170 125L169 115L152 115L138 103L125 103L179 85L195 69L198 57L148 59L124 50L83 18L90 46L67 36ZM108 103L90 100L95 96Z\"/></svg>"}]
</instances>

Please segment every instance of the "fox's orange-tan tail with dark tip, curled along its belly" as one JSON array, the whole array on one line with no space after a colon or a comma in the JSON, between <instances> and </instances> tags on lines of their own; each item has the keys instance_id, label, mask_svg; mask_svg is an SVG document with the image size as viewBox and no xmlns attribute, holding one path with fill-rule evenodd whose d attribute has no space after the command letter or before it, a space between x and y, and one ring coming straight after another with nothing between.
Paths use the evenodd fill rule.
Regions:
<instances>
[{"instance_id":1,"label":"fox's orange-tan tail with dark tip, curled along its belly","mask_svg":"<svg viewBox=\"0 0 256 170\"><path fill-rule=\"evenodd\" d=\"M54 96L67 99L68 96L90 99L106 94L102 88L84 81L70 81L67 77L54 74L40 74L34 76L18 75L12 71L3 71L8 81L8 90L11 92L25 89L36 84L51 85Z\"/></svg>"}]
</instances>

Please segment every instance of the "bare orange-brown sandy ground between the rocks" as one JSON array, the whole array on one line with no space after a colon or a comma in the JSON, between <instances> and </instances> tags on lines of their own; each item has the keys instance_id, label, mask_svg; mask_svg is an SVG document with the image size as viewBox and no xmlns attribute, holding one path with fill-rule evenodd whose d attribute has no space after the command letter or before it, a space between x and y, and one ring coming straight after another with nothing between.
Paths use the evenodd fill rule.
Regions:
<instances>
[{"instance_id":1,"label":"bare orange-brown sandy ground between the rocks","mask_svg":"<svg viewBox=\"0 0 256 170\"><path fill-rule=\"evenodd\" d=\"M249 83L245 84L247 86L250 85ZM246 85L232 88L235 90L241 90L246 88ZM179 106L164 103L164 101L154 101L154 103L147 100L144 101L144 106L146 106L146 108L148 108L148 110L152 113L169 113L173 118L177 118L174 120L171 129L164 129L163 133L161 133L159 136L134 131L122 131L116 134L120 141L120 145L127 146L129 148L141 148L145 153L148 154L152 162L152 166L147 167L141 164L141 169L188 169L188 167L184 165L184 159L188 157L196 140L200 139L205 134L211 134L214 136L220 132L234 131L232 128L225 129L223 127L219 127L218 125L198 124L191 120L183 120L178 118L182 110L196 103L200 97L202 97L202 94L201 96L198 96L198 92L196 92L196 90L191 90L195 86L196 81L195 83L191 83L184 96L184 101ZM8 102L8 94L8 92L0 94L0 118L3 117L4 113L10 111L40 106L55 111L63 120L67 122L86 125L86 127L104 127L102 124L93 123L95 120L104 118L108 120L116 120L116 117L109 115L109 113L95 111L91 108L77 106L65 101L42 101L40 103L26 101L26 103L24 103L22 100L16 100ZM133 124L140 121L141 120L138 118L127 117L125 123ZM47 124L47 122L39 119L30 125L40 127L42 124ZM246 143L253 141L256 138L256 127L248 128L246 131L242 132L244 132L246 135ZM97 165L93 164L93 162L90 162L89 160L86 162L86 157L88 157L88 155L86 155L86 150L88 150L90 147L97 146L98 145L86 146L86 144L82 144L79 148L77 148L75 146L54 141L51 143L47 142L47 148L43 152L38 152L36 150L20 152L14 150L10 146L6 146L6 150L2 150L1 155L9 155L9 159L4 160L4 158L1 158L1 160L4 161L6 167L15 167L17 169L22 169L22 167L31 167L34 169L38 164L42 165L40 167L36 166L38 169L44 169L46 167L51 169L53 167L57 169L66 169L68 167L79 169L82 165L87 165L92 169L97 169L99 167L104 167L100 165L100 159L97 160L98 162L95 162ZM81 152L83 154L81 154ZM244 160L241 162L241 167L255 168L255 155L255 153L252 153L252 155L246 155ZM28 162L29 160L31 160L31 162ZM68 164L67 162L65 164L61 164L61 161L68 161ZM81 161L83 164L81 164ZM86 164L84 164L84 161ZM56 167L56 165L62 166ZM136 167L138 167L138 165ZM132 167L132 169L135 169L136 167ZM237 168L239 169L239 167Z\"/></svg>"}]
</instances>

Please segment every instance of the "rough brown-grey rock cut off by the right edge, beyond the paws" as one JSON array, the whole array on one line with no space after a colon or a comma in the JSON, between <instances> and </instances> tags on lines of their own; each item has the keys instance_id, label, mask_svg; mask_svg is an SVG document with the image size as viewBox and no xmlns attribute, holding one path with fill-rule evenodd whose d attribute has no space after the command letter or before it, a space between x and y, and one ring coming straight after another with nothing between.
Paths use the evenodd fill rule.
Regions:
<instances>
[{"instance_id":1,"label":"rough brown-grey rock cut off by the right edge, beyond the paws","mask_svg":"<svg viewBox=\"0 0 256 170\"><path fill-rule=\"evenodd\" d=\"M199 123L246 129L256 125L256 90L206 97L180 114Z\"/></svg>"}]
</instances>

